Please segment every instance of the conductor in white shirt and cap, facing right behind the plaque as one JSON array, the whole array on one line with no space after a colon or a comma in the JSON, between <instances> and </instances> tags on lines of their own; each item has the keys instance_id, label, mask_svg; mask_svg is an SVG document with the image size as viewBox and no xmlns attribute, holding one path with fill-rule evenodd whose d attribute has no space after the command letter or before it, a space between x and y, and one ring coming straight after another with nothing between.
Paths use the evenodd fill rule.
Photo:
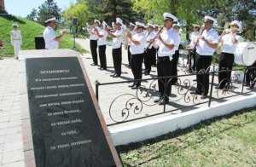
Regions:
<instances>
[{"instance_id":1,"label":"conductor in white shirt and cap, facing right behind the plaque","mask_svg":"<svg viewBox=\"0 0 256 167\"><path fill-rule=\"evenodd\" d=\"M59 49L59 43L61 38L67 32L61 32L61 35L55 35L55 24L56 18L51 17L49 20L45 21L46 28L44 29L44 42L45 42L45 49Z\"/></svg>"}]
</instances>

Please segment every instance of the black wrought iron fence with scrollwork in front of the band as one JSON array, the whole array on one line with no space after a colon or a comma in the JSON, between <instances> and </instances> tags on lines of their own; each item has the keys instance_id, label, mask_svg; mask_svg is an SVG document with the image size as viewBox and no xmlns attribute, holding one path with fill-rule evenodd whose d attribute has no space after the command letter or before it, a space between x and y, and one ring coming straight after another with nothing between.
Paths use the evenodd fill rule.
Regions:
<instances>
[{"instance_id":1,"label":"black wrought iron fence with scrollwork in front of the band","mask_svg":"<svg viewBox=\"0 0 256 167\"><path fill-rule=\"evenodd\" d=\"M218 81L218 74L223 72L233 72L232 78ZM250 72L249 78L251 85L247 85L245 91L246 73ZM196 75L209 75L209 94L207 99L202 99L201 95L192 94L195 91L196 86L201 83L197 83L195 80ZM207 104L211 107L212 101L221 101L229 99L236 95L245 95L254 92L256 83L256 67L247 67L246 69L236 70L222 70L215 71L213 69L202 70L200 72L189 73L186 70L183 75L170 76L163 78L146 78L139 80L129 80L112 83L99 83L96 82L96 99L101 101L100 87L116 85L123 85L124 83L134 83L137 81L142 82L142 86L135 91L113 95L113 99L108 103L108 126L123 124L138 119L157 116L160 114L175 112L193 107L199 107L200 105ZM175 80L175 83L173 82ZM171 86L171 95L169 96L169 102L162 105L160 108L159 103L154 100L159 96L158 82L164 82L165 94L162 98L166 98L166 89ZM222 86L221 89L220 85ZM102 96L101 96L102 97ZM110 98L110 97L109 97ZM150 109L154 112L148 112Z\"/></svg>"}]
</instances>

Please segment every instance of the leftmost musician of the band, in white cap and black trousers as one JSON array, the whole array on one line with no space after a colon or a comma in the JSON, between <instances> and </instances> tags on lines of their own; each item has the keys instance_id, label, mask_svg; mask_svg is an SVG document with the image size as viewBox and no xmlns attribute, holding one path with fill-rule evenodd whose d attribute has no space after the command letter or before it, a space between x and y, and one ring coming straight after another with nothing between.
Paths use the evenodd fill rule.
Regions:
<instances>
[{"instance_id":1,"label":"leftmost musician of the band, in white cap and black trousers","mask_svg":"<svg viewBox=\"0 0 256 167\"><path fill-rule=\"evenodd\" d=\"M93 64L92 66L98 65L98 54L97 54L97 41L99 37L96 34L96 30L99 28L101 22L99 20L94 20L93 26L87 27L87 32L89 32L90 35L90 53L92 56Z\"/></svg>"}]
</instances>

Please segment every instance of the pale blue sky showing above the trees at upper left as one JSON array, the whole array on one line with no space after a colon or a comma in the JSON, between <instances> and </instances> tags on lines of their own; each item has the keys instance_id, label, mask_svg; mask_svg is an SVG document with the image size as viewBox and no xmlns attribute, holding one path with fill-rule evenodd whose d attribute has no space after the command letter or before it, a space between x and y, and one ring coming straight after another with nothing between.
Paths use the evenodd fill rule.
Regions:
<instances>
[{"instance_id":1,"label":"pale blue sky showing above the trees at upper left","mask_svg":"<svg viewBox=\"0 0 256 167\"><path fill-rule=\"evenodd\" d=\"M5 9L9 14L16 16L26 17L30 14L33 8L38 9L40 4L45 0L5 0ZM74 3L76 0L55 0L61 9L66 9L70 3Z\"/></svg>"}]
</instances>

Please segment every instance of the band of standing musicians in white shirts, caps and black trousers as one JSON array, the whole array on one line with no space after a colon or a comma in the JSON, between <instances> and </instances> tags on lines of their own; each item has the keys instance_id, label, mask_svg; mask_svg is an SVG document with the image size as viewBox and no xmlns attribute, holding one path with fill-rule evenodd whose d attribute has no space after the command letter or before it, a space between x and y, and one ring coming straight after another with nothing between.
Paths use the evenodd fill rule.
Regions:
<instances>
[{"instance_id":1,"label":"band of standing musicians in white shirts, caps and black trousers","mask_svg":"<svg viewBox=\"0 0 256 167\"><path fill-rule=\"evenodd\" d=\"M164 26L160 28L153 24L146 26L142 22L130 23L129 29L125 29L123 20L116 19L113 28L105 22L94 21L93 26L88 26L90 34L90 49L94 66L98 65L97 47L101 69L107 69L106 45L107 37L112 37L113 48L113 78L121 76L122 63L122 43L123 39L128 43L128 61L135 82L130 85L131 89L138 89L143 78L143 62L145 66L144 74L148 75L151 66L157 66L159 78L160 97L155 102L164 104L169 101L172 85L177 83L177 62L179 58L179 45L181 42L180 25L177 17L170 13L163 14ZM214 30L213 25L216 20L211 16L205 16L204 25L194 25L194 32L190 34L188 49L190 56L188 59L189 69L196 72L197 87L195 95L201 95L201 99L206 99L209 91L209 70L212 63L212 55L221 49L219 55L218 89L224 89L230 82L231 71L234 64L234 54L236 44L242 41L237 35L241 31L241 22L234 20L230 24L229 31L224 31L221 36ZM157 57L157 58L156 58ZM192 64L192 59L194 59ZM157 63L156 63L157 62ZM165 78L173 76L173 78ZM176 76L176 78L175 78Z\"/></svg>"}]
</instances>

